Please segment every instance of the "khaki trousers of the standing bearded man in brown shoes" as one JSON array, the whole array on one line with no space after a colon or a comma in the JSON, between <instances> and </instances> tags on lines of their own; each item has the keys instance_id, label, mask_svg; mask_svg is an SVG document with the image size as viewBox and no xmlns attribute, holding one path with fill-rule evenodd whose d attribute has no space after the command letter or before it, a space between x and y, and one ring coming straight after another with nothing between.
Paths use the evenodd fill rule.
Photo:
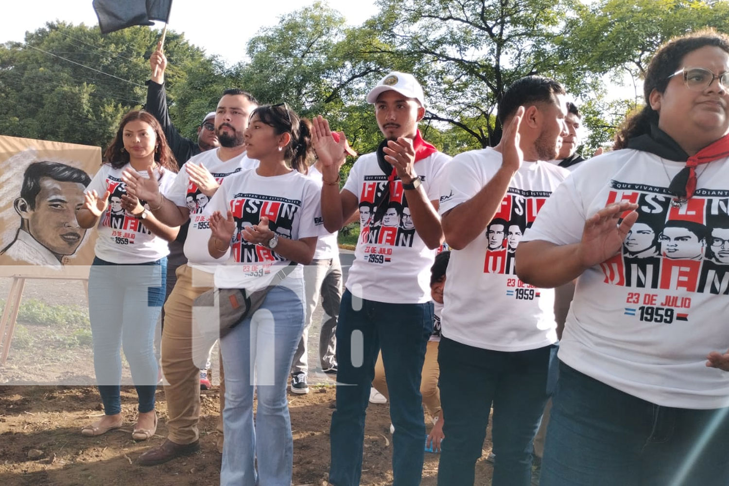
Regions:
<instances>
[{"instance_id":1,"label":"khaki trousers of the standing bearded man in brown shoes","mask_svg":"<svg viewBox=\"0 0 729 486\"><path fill-rule=\"evenodd\" d=\"M193 283L193 272L195 286ZM162 332L162 371L169 418L168 439L175 444L198 440L200 418L200 367L205 366L211 342L193 338L192 302L213 286L213 275L194 270L187 264L177 268L177 283L165 303L165 325ZM225 375L220 359L220 410L225 408ZM222 436L222 413L217 431Z\"/></svg>"}]
</instances>

